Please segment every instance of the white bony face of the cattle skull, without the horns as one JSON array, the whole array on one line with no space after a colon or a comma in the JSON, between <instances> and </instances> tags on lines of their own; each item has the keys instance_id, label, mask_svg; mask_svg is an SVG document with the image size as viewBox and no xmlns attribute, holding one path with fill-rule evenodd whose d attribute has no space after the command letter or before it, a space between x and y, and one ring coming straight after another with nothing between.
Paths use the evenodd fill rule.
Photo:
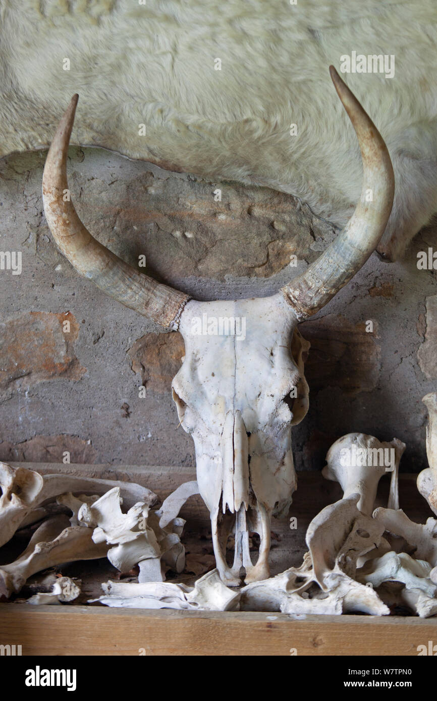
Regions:
<instances>
[{"instance_id":1,"label":"white bony face of the cattle skull, without the horns","mask_svg":"<svg viewBox=\"0 0 437 701\"><path fill-rule=\"evenodd\" d=\"M203 319L244 320L244 338L205 334ZM185 358L173 380L173 398L182 427L194 439L199 492L211 515L217 568L228 584L240 583L241 568L246 583L269 576L271 515L288 509L295 490L291 426L308 408L303 361L309 348L298 332L293 336L295 325L280 295L189 302L180 320ZM293 413L284 401L290 392ZM256 564L248 531L260 535ZM231 532L236 545L228 566Z\"/></svg>"}]
</instances>

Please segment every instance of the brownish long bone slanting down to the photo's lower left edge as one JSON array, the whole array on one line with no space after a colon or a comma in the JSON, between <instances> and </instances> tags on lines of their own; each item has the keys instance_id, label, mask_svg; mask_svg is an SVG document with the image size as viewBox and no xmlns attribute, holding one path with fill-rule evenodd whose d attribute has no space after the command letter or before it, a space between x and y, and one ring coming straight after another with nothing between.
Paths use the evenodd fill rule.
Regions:
<instances>
[{"instance_id":1,"label":"brownish long bone slanting down to the photo's lower left edge","mask_svg":"<svg viewBox=\"0 0 437 701\"><path fill-rule=\"evenodd\" d=\"M0 566L0 595L19 592L26 580L43 569L64 562L105 557L107 545L93 543L93 531L83 526L69 526L67 516L54 516L43 522L29 540L20 557Z\"/></svg>"}]
</instances>

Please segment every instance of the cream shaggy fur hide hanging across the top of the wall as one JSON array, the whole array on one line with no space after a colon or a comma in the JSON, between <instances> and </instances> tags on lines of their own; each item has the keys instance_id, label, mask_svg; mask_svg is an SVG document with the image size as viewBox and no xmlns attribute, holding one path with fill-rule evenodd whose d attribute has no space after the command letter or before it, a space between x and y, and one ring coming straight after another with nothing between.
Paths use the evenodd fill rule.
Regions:
<instances>
[{"instance_id":1,"label":"cream shaggy fur hide hanging across the top of the wall","mask_svg":"<svg viewBox=\"0 0 437 701\"><path fill-rule=\"evenodd\" d=\"M379 250L396 258L437 210L436 37L435 0L0 0L0 155L47 147L77 92L73 144L293 193L342 225L361 158L328 65L394 54L393 79L343 77L391 154Z\"/></svg>"}]
</instances>

